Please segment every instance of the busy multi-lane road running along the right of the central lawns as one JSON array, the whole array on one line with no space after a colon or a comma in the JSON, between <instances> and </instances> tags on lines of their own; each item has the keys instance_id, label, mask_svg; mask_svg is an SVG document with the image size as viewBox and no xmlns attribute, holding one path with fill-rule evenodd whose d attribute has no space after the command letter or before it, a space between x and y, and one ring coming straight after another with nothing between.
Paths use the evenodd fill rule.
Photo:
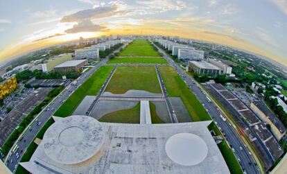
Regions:
<instances>
[{"instance_id":1,"label":"busy multi-lane road running along the right of the central lawns","mask_svg":"<svg viewBox=\"0 0 287 174\"><path fill-rule=\"evenodd\" d=\"M158 46L157 49L159 50L160 53L162 53L162 55L164 55L164 58L168 61L168 63L175 68L180 77L182 77L184 82L186 82L186 85L189 86L189 89L191 89L191 91L195 94L195 96L197 96L200 103L204 105L205 109L207 110L211 118L214 120L214 122L218 125L218 128L220 128L221 132L225 134L225 139L227 139L229 146L231 146L234 149L234 154L236 155L238 161L240 161L243 171L245 171L245 173L252 173L252 174L260 173L258 168L256 167L252 155L249 154L250 153L249 150L245 147L245 144L238 136L232 125L228 121L223 121L223 119L221 119L220 114L223 115L223 113L221 113L218 110L218 108L214 105L214 103L207 101L207 97L202 92L200 87L198 87L198 85L193 81L193 79L191 79L184 72L184 70L182 70L180 66L170 58L169 55L167 55Z\"/></svg>"}]
</instances>

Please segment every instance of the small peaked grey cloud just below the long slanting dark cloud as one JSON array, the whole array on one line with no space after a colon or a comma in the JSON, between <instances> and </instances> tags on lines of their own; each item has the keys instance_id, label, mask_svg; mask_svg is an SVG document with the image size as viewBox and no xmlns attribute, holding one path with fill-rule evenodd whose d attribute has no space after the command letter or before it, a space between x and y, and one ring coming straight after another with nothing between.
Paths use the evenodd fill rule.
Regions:
<instances>
[{"instance_id":1,"label":"small peaked grey cloud just below the long slanting dark cloud","mask_svg":"<svg viewBox=\"0 0 287 174\"><path fill-rule=\"evenodd\" d=\"M66 33L80 33L80 32L97 32L106 31L105 26L100 26L98 24L93 24L89 19L85 21L80 21L78 24L73 25L73 28L67 29Z\"/></svg>"}]
</instances>

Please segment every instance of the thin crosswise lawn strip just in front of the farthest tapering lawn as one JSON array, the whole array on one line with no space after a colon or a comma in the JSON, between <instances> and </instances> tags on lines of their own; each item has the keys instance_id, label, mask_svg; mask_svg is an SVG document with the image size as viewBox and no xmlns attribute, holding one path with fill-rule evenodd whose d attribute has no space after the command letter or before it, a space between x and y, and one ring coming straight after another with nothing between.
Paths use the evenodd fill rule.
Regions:
<instances>
[{"instance_id":1,"label":"thin crosswise lawn strip just in front of the farthest tapering lawn","mask_svg":"<svg viewBox=\"0 0 287 174\"><path fill-rule=\"evenodd\" d=\"M107 61L107 64L120 64L120 63L152 63L152 64L167 64L164 58L113 58Z\"/></svg>"}]
</instances>

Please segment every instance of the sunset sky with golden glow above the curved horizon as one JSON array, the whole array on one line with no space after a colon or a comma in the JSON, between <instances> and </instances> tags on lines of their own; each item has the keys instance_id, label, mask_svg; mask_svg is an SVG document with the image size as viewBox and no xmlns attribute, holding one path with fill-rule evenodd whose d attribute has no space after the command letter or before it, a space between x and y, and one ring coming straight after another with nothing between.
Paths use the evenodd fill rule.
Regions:
<instances>
[{"instance_id":1,"label":"sunset sky with golden glow above the curved horizon","mask_svg":"<svg viewBox=\"0 0 287 174\"><path fill-rule=\"evenodd\" d=\"M0 63L101 35L171 35L234 46L287 66L287 0L0 0Z\"/></svg>"}]
</instances>

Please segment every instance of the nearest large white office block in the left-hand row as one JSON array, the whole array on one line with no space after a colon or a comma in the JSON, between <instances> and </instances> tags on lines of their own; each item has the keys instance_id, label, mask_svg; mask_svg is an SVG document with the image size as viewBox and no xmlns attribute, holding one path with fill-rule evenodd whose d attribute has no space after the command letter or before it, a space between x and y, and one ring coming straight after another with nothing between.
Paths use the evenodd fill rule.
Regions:
<instances>
[{"instance_id":1,"label":"nearest large white office block in the left-hand row","mask_svg":"<svg viewBox=\"0 0 287 174\"><path fill-rule=\"evenodd\" d=\"M75 51L76 59L99 59L100 53L98 48L78 49Z\"/></svg>"}]
</instances>

